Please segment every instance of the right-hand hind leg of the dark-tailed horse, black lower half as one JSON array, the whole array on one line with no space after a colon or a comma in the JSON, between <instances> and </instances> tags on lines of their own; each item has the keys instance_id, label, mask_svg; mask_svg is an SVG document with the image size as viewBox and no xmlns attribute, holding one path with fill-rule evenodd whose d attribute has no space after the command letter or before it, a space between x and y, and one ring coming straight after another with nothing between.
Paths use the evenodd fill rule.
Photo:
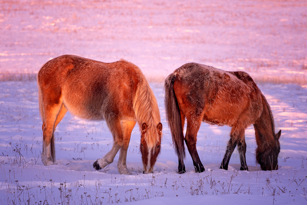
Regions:
<instances>
[{"instance_id":1,"label":"right-hand hind leg of the dark-tailed horse, black lower half","mask_svg":"<svg viewBox=\"0 0 307 205\"><path fill-rule=\"evenodd\" d=\"M194 121L194 120L193 120ZM192 157L194 168L196 172L203 172L205 168L200 161L196 150L197 132L200 127L200 121L190 122L187 121L187 132L185 133L185 143L187 144L188 151Z\"/></svg>"}]
</instances>

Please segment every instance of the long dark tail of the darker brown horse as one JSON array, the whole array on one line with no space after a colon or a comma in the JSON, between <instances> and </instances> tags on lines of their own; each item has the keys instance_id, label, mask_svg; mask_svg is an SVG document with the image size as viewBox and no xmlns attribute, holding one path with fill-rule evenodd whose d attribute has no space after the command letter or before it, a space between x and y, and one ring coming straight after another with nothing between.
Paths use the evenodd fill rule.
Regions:
<instances>
[{"instance_id":1,"label":"long dark tail of the darker brown horse","mask_svg":"<svg viewBox=\"0 0 307 205\"><path fill-rule=\"evenodd\" d=\"M165 79L165 115L171 130L173 143L175 145L175 152L178 157L185 157L184 135L182 130L181 114L178 101L174 91L174 82L177 77L177 72L170 74Z\"/></svg>"}]
</instances>

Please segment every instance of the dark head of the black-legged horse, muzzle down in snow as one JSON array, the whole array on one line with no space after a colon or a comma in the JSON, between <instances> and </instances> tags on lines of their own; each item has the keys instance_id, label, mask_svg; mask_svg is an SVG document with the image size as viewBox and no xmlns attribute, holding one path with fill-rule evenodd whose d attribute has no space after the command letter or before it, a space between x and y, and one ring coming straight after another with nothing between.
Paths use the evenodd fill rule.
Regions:
<instances>
[{"instance_id":1,"label":"dark head of the black-legged horse, muzzle down in snow","mask_svg":"<svg viewBox=\"0 0 307 205\"><path fill-rule=\"evenodd\" d=\"M263 171L266 170L278 170L278 154L280 152L279 137L281 130L274 135L276 146L272 145L270 149L265 149L263 152L259 151L259 147L256 150L256 159L260 164Z\"/></svg>"}]
</instances>

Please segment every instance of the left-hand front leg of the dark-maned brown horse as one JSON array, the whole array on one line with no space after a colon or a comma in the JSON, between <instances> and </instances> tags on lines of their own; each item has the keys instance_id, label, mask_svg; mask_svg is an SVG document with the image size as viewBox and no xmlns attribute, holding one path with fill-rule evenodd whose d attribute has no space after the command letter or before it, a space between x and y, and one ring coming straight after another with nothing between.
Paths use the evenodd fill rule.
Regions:
<instances>
[{"instance_id":1,"label":"left-hand front leg of the dark-maned brown horse","mask_svg":"<svg viewBox=\"0 0 307 205\"><path fill-rule=\"evenodd\" d=\"M226 169L226 170L228 169L228 164L229 164L231 154L235 150L235 146L237 145L239 139L242 138L242 136L244 138L244 130L243 130L243 132L242 131L238 132L238 131L235 130L234 127L231 129L230 140L228 141L226 152L225 152L223 161L222 161L221 166L220 166L221 169ZM244 143L245 143L245 141L244 141ZM246 146L246 144L245 144L245 146Z\"/></svg>"}]
</instances>

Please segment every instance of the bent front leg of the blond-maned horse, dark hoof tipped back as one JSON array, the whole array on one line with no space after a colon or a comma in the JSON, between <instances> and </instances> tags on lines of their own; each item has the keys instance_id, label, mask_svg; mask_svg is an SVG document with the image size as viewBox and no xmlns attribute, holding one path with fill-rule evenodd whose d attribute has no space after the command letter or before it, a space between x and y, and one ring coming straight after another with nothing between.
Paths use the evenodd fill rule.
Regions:
<instances>
[{"instance_id":1,"label":"bent front leg of the blond-maned horse, dark hoof tipped back","mask_svg":"<svg viewBox=\"0 0 307 205\"><path fill-rule=\"evenodd\" d=\"M119 117L112 117L112 115L110 115L110 117L106 117L106 122L112 132L114 143L112 149L103 158L94 162L93 167L96 170L105 168L108 164L111 164L115 155L123 145L122 126Z\"/></svg>"}]
</instances>

